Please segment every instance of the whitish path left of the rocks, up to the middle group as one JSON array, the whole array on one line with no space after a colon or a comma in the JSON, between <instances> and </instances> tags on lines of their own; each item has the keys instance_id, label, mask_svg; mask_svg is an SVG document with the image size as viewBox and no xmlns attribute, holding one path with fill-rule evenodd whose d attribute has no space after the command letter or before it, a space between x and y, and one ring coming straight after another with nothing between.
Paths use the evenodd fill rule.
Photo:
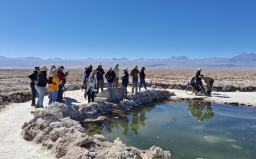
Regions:
<instances>
[{"instance_id":1,"label":"whitish path left of the rocks, up to the middle group","mask_svg":"<svg viewBox=\"0 0 256 159\"><path fill-rule=\"evenodd\" d=\"M67 104L84 104L81 91L65 92L67 96ZM46 106L48 97L44 98ZM31 101L24 103L16 103L6 106L0 112L0 158L10 159L51 159L53 157L51 151L44 149L40 144L34 144L31 141L22 139L20 131L23 123L30 121L33 116L30 111L34 107L30 106Z\"/></svg>"}]
</instances>

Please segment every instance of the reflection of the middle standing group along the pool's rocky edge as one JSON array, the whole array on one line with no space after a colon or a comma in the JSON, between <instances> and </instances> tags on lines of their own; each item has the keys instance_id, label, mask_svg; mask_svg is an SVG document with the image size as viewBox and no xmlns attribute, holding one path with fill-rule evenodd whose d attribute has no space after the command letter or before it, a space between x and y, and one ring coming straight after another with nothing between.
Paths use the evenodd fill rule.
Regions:
<instances>
[{"instance_id":1,"label":"reflection of the middle standing group along the pool's rocky edge","mask_svg":"<svg viewBox=\"0 0 256 159\"><path fill-rule=\"evenodd\" d=\"M122 135L127 136L129 127L133 134L138 135L140 127L146 126L146 111L150 112L155 108L156 104L145 106L134 111L123 114L112 114L107 119L100 122L83 123L85 132L88 135L102 134L104 131L112 132L113 128L122 128ZM130 120L129 120L130 118Z\"/></svg>"}]
</instances>

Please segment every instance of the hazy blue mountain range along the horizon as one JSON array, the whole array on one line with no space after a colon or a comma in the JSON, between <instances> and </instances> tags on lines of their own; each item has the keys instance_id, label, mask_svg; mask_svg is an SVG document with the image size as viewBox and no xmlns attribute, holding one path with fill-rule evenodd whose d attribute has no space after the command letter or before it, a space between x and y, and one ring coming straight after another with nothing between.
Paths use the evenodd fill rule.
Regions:
<instances>
[{"instance_id":1,"label":"hazy blue mountain range along the horizon","mask_svg":"<svg viewBox=\"0 0 256 159\"><path fill-rule=\"evenodd\" d=\"M52 64L56 66L64 66L69 69L82 69L86 65L92 64L97 66L102 63L104 68L113 67L115 63L119 63L121 68L139 67L146 68L170 68L170 69L195 69L198 67L208 69L247 69L252 70L256 68L256 54L242 53L231 58L203 58L203 59L189 59L185 56L176 56L166 59L133 59L127 58L112 58L112 59L61 59L49 58L42 59L38 57L22 57L22 58L8 58L0 56L1 69L31 69L34 66L46 65L47 67Z\"/></svg>"}]
</instances>

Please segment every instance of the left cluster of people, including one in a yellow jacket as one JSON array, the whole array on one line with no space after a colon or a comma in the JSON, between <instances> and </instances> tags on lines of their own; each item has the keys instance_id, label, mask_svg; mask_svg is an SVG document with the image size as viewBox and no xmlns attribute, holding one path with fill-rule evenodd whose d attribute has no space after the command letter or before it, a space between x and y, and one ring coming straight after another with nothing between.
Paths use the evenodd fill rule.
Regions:
<instances>
[{"instance_id":1,"label":"left cluster of people, including one in a yellow jacket","mask_svg":"<svg viewBox=\"0 0 256 159\"><path fill-rule=\"evenodd\" d=\"M34 72L28 76L30 78L30 87L32 90L32 104L35 108L43 108L44 95L47 91L49 94L48 105L52 105L54 102L62 102L64 85L66 83L66 78L68 72L63 72L65 68L63 66L56 67L52 65L48 71L46 66L35 67ZM38 92L38 101L35 101L36 92Z\"/></svg>"}]
</instances>

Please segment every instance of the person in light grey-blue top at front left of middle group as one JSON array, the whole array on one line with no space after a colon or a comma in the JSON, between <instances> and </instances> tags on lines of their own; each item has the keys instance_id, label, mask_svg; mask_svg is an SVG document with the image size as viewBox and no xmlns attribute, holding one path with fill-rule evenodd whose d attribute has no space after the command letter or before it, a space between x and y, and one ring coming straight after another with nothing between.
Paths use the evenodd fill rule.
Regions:
<instances>
[{"instance_id":1,"label":"person in light grey-blue top at front left of middle group","mask_svg":"<svg viewBox=\"0 0 256 159\"><path fill-rule=\"evenodd\" d=\"M95 92L96 92L95 88L97 88L96 74L97 74L97 70L94 69L88 77L87 86L86 86L88 103L90 103L91 101L94 102L94 96L95 96Z\"/></svg>"}]
</instances>

